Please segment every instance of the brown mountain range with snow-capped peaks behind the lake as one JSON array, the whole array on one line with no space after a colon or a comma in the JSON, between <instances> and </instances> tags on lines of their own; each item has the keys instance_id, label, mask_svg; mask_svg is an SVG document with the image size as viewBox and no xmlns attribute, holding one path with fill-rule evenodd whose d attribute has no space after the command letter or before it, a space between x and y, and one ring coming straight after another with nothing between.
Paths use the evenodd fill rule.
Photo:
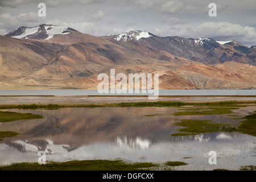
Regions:
<instances>
[{"instance_id":1,"label":"brown mountain range with snow-capped peaks behind the lake","mask_svg":"<svg viewBox=\"0 0 256 182\"><path fill-rule=\"evenodd\" d=\"M51 24L0 36L1 89L97 89L110 68L157 72L160 89L255 89L256 46L141 30L97 37Z\"/></svg>"}]
</instances>

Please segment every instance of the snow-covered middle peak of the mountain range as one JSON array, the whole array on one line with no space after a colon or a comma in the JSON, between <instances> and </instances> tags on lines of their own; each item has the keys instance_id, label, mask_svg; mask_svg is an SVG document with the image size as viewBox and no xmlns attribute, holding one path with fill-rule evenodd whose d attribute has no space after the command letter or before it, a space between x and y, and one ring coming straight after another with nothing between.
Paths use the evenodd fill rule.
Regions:
<instances>
[{"instance_id":1,"label":"snow-covered middle peak of the mountain range","mask_svg":"<svg viewBox=\"0 0 256 182\"><path fill-rule=\"evenodd\" d=\"M149 38L152 36L150 32L143 32L141 30L136 30L136 31L126 31L122 32L121 34L118 35L112 35L112 37L117 40L117 41L130 41L130 40L140 40L141 38Z\"/></svg>"}]
</instances>

